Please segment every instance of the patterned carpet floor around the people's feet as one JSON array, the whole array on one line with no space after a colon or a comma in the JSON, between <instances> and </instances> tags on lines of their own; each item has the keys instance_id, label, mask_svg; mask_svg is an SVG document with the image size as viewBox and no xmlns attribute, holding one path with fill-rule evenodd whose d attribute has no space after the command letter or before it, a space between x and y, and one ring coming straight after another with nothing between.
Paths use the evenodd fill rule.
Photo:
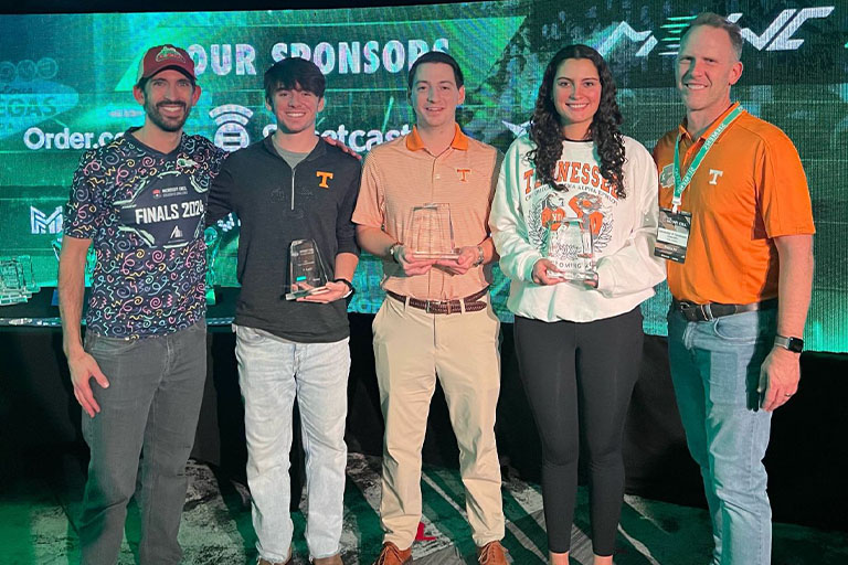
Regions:
<instances>
[{"instance_id":1,"label":"patterned carpet floor around the people's feet","mask_svg":"<svg viewBox=\"0 0 848 565\"><path fill-rule=\"evenodd\" d=\"M33 458L8 454L0 472L0 563L4 565L65 565L78 563L75 519L80 510L83 463L78 455ZM247 490L216 475L206 465L191 461L180 542L188 565L255 563ZM465 520L463 486L458 472L424 468L424 534L416 542L421 565L471 564L474 543ZM351 454L344 493L346 515L342 557L347 565L370 564L380 550L382 532L377 508L380 498L380 459ZM507 478L504 486L507 535L504 545L512 562L544 564L547 544L539 487ZM305 508L305 507L301 507ZM119 564L136 563L138 522L134 509ZM137 513L135 514L137 516ZM295 564L307 564L303 540L304 516L295 520ZM589 505L580 489L573 532L572 563L591 564ZM617 565L707 565L710 529L702 509L627 497L622 513ZM774 565L848 563L844 532L825 532L788 524L774 525Z\"/></svg>"}]
</instances>

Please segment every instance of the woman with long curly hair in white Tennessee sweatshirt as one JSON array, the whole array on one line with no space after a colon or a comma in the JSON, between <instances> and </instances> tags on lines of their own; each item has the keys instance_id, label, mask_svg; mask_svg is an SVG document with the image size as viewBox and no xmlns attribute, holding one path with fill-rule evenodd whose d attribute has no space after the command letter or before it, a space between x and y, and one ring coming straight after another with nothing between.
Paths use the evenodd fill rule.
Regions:
<instances>
[{"instance_id":1,"label":"woman with long curly hair in white Tennessee sweatshirt","mask_svg":"<svg viewBox=\"0 0 848 565\"><path fill-rule=\"evenodd\" d=\"M581 437L594 565L612 563L624 420L642 358L639 305L665 278L654 257L657 171L621 122L604 58L585 45L560 50L544 71L529 134L507 151L489 218L511 279L507 306L542 441L552 565L568 563Z\"/></svg>"}]
</instances>

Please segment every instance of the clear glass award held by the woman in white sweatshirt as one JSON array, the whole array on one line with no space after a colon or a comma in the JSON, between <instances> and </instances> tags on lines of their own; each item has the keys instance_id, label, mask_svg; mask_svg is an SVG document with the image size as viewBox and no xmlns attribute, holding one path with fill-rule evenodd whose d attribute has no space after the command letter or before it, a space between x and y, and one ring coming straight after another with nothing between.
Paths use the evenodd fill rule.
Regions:
<instances>
[{"instance_id":1,"label":"clear glass award held by the woman in white sweatshirt","mask_svg":"<svg viewBox=\"0 0 848 565\"><path fill-rule=\"evenodd\" d=\"M560 273L548 271L549 277L565 280L594 278L594 236L589 217L563 220L556 230L549 233L545 256L560 269Z\"/></svg>"}]
</instances>

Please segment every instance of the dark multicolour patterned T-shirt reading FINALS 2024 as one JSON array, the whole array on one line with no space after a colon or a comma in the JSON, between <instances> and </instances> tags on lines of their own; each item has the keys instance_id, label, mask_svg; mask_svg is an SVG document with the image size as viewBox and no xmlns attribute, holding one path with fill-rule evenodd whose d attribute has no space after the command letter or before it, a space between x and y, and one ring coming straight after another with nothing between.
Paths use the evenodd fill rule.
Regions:
<instances>
[{"instance_id":1,"label":"dark multicolour patterned T-shirt reading FINALS 2024","mask_svg":"<svg viewBox=\"0 0 848 565\"><path fill-rule=\"evenodd\" d=\"M65 235L92 239L97 259L86 324L113 338L161 335L203 318L203 214L226 156L184 134L165 154L131 131L83 154L65 209Z\"/></svg>"}]
</instances>

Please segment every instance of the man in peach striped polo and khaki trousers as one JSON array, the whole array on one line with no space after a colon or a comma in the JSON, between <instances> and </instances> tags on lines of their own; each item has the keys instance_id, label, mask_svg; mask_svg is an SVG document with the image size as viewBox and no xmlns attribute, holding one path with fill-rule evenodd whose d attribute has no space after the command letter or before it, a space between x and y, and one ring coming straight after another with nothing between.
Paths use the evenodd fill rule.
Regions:
<instances>
[{"instance_id":1,"label":"man in peach striped polo and khaki trousers","mask_svg":"<svg viewBox=\"0 0 848 565\"><path fill-rule=\"evenodd\" d=\"M410 70L409 86L417 125L368 156L353 213L360 246L383 258L385 274L386 299L373 322L385 420L380 504L385 536L377 563L412 561L421 520L421 449L438 377L459 446L478 558L500 564L506 556L495 445L499 322L484 270L495 258L486 220L500 158L456 124L465 88L453 57L422 55ZM449 204L458 258L413 253L412 210L428 203Z\"/></svg>"}]
</instances>

